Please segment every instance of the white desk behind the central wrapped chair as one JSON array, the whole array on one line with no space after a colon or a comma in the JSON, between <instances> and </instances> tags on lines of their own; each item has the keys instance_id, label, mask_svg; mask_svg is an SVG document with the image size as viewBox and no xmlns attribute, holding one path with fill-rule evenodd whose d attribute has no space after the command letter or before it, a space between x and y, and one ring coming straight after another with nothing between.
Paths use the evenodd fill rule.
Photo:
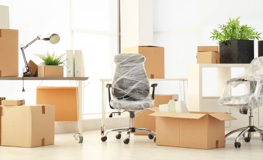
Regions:
<instances>
[{"instance_id":1,"label":"white desk behind the central wrapped chair","mask_svg":"<svg viewBox=\"0 0 263 160\"><path fill-rule=\"evenodd\" d=\"M107 92L106 92L106 96L105 96L105 82L108 84L109 81L112 81L112 79L100 79L100 81L102 82L102 118L101 118L101 135L104 135L104 131L105 131L105 118L106 118L106 104L109 103L107 101ZM149 79L149 81L179 81L179 87L180 87L180 97L182 100L183 97L183 101L186 102L186 92L185 92L185 82L187 84L187 78L157 78L157 79ZM183 84L183 96L182 96L182 92L181 92L181 82ZM106 100L105 100L106 98Z\"/></svg>"}]
</instances>

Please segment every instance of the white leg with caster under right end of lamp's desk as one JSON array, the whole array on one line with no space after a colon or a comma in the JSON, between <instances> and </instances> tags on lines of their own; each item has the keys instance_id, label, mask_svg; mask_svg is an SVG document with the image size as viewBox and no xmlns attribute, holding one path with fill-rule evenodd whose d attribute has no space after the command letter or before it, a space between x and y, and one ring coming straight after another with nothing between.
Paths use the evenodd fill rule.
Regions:
<instances>
[{"instance_id":1,"label":"white leg with caster under right end of lamp's desk","mask_svg":"<svg viewBox=\"0 0 263 160\"><path fill-rule=\"evenodd\" d=\"M77 84L77 127L78 133L74 135L78 143L83 142L82 131L83 131L83 97L84 97L84 85L82 80L76 80Z\"/></svg>"}]
</instances>

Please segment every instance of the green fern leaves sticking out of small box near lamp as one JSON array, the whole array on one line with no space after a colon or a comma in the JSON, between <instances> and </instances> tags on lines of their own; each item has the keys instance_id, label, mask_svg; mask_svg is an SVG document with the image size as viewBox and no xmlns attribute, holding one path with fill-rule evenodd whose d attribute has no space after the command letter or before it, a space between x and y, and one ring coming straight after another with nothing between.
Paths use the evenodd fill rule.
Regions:
<instances>
[{"instance_id":1,"label":"green fern leaves sticking out of small box near lamp","mask_svg":"<svg viewBox=\"0 0 263 160\"><path fill-rule=\"evenodd\" d=\"M59 65L64 65L66 66L65 60L61 60L66 53L60 55L59 57L55 56L55 53L53 52L52 55L47 52L47 54L34 54L38 56L43 62L40 63L40 65L45 65L45 66L59 66ZM67 67L67 66L66 66ZM67 67L68 68L68 67Z\"/></svg>"}]
</instances>

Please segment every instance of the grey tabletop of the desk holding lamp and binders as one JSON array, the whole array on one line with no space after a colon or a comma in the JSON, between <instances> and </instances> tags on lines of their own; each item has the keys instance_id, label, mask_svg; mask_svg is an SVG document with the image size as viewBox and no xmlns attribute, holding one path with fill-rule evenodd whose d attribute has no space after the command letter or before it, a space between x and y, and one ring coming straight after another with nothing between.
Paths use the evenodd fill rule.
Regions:
<instances>
[{"instance_id":1,"label":"grey tabletop of the desk holding lamp and binders","mask_svg":"<svg viewBox=\"0 0 263 160\"><path fill-rule=\"evenodd\" d=\"M0 77L0 80L23 80L23 77ZM24 77L24 80L88 80L88 77Z\"/></svg>"}]
</instances>

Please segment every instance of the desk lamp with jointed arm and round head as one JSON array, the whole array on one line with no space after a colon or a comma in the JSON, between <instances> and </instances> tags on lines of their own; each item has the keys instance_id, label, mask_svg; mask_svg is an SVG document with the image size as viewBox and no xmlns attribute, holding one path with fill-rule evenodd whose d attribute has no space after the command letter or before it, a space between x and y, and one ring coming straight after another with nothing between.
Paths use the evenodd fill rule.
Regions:
<instances>
[{"instance_id":1,"label":"desk lamp with jointed arm and round head","mask_svg":"<svg viewBox=\"0 0 263 160\"><path fill-rule=\"evenodd\" d=\"M46 37L46 38L42 38L40 35L38 35L38 37L36 37L33 41L31 41L30 43L28 43L27 45L20 45L20 49L22 50L22 54L23 54L23 58L24 58L24 62L25 62L25 66L23 67L23 77L33 77L34 75L32 74L32 68L28 66L27 60L26 60L26 56L24 53L24 49L26 49L28 46L30 46L32 43L34 43L37 40L42 40L42 41L49 41L51 44L57 44L60 40L60 37L58 34L51 34L50 37Z\"/></svg>"}]
</instances>

